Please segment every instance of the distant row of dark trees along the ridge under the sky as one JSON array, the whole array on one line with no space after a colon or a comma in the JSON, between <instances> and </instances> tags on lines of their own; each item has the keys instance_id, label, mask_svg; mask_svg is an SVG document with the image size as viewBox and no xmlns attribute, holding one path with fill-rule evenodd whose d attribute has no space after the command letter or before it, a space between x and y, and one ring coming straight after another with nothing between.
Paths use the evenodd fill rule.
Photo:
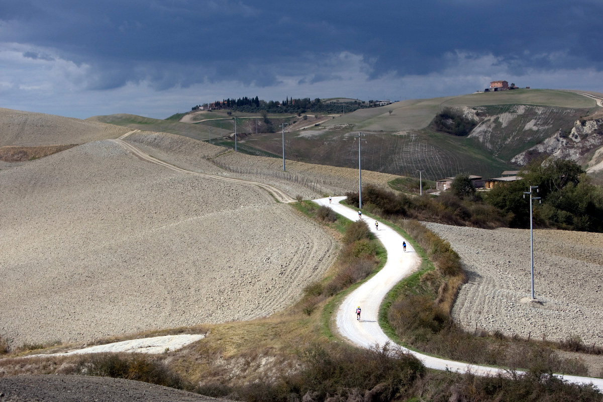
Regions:
<instances>
[{"instance_id":1,"label":"distant row of dark trees along the ridge under the sky","mask_svg":"<svg viewBox=\"0 0 603 402\"><path fill-rule=\"evenodd\" d=\"M247 113L257 113L262 110L267 113L349 113L350 111L358 110L359 108L376 107L374 101L349 101L349 102L323 102L320 98L314 100L310 98L289 98L287 96L283 101L264 101L257 96L254 98L238 98L238 99L223 99L215 101L214 104L218 108L226 108L232 111L244 111ZM209 104L195 105L191 110L199 110Z\"/></svg>"}]
</instances>

